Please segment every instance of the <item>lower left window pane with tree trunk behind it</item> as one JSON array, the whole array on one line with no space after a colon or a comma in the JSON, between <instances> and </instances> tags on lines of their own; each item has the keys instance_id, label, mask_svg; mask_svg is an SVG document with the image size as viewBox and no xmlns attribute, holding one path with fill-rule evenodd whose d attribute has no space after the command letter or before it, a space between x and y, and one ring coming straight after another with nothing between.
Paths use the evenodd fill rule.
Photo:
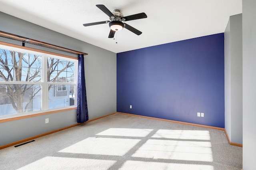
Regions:
<instances>
[{"instance_id":1,"label":"lower left window pane with tree trunk behind it","mask_svg":"<svg viewBox=\"0 0 256 170\"><path fill-rule=\"evenodd\" d=\"M41 110L41 85L0 85L0 116Z\"/></svg>"}]
</instances>

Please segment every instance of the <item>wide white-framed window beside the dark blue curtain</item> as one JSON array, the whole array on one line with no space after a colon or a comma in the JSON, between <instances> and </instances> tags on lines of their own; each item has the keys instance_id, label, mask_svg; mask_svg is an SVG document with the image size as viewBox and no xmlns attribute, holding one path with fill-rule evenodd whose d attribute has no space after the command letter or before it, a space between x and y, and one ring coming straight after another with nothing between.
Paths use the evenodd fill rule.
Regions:
<instances>
[{"instance_id":1,"label":"wide white-framed window beside the dark blue curtain","mask_svg":"<svg viewBox=\"0 0 256 170\"><path fill-rule=\"evenodd\" d=\"M77 60L0 45L0 119L76 106Z\"/></svg>"}]
</instances>

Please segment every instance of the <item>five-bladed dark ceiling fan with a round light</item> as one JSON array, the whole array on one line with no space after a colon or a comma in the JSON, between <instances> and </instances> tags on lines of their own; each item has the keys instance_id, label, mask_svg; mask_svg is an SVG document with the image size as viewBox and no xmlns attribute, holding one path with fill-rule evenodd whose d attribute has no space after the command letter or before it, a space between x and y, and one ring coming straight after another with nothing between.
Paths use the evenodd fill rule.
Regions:
<instances>
[{"instance_id":1,"label":"five-bladed dark ceiling fan with a round light","mask_svg":"<svg viewBox=\"0 0 256 170\"><path fill-rule=\"evenodd\" d=\"M110 33L108 35L108 38L114 38L115 32L120 31L123 28L126 28L127 30L133 32L134 34L140 35L142 32L139 30L133 28L132 26L129 26L128 24L124 23L124 21L130 21L130 20L138 20L142 18L147 18L147 15L142 12L140 14L134 14L130 16L124 16L120 10L114 10L113 12L110 12L108 8L104 5L96 5L100 10L102 10L105 14L109 16L110 21L101 21L101 22L92 22L88 24L83 24L83 26L93 26L98 24L106 24L109 23L110 27Z\"/></svg>"}]
</instances>

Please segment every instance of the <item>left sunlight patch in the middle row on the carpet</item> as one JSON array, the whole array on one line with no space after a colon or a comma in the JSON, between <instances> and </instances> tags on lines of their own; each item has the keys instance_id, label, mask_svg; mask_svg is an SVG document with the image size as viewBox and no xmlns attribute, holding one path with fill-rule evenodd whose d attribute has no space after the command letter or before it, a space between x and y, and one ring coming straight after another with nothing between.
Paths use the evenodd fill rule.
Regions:
<instances>
[{"instance_id":1,"label":"left sunlight patch in the middle row on the carpet","mask_svg":"<svg viewBox=\"0 0 256 170\"><path fill-rule=\"evenodd\" d=\"M59 152L123 156L140 139L89 137Z\"/></svg>"}]
</instances>

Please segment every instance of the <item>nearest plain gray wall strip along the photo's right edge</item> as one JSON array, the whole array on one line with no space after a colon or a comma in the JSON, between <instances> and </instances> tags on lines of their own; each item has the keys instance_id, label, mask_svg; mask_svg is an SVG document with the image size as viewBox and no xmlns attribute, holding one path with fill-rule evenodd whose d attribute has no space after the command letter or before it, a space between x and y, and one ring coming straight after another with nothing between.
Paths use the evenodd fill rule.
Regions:
<instances>
[{"instance_id":1,"label":"nearest plain gray wall strip along the photo's right edge","mask_svg":"<svg viewBox=\"0 0 256 170\"><path fill-rule=\"evenodd\" d=\"M243 0L243 169L255 170L256 1Z\"/></svg>"}]
</instances>

